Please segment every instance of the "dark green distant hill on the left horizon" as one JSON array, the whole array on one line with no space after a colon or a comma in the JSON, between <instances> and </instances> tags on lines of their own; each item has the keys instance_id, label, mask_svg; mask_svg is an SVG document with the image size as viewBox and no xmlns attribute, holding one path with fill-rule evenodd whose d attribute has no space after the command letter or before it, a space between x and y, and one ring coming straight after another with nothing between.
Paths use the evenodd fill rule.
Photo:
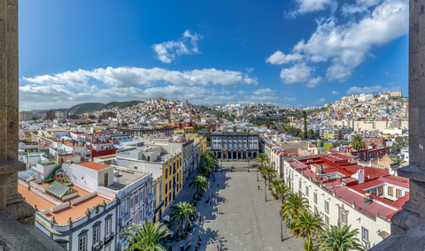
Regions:
<instances>
[{"instance_id":1,"label":"dark green distant hill on the left horizon","mask_svg":"<svg viewBox=\"0 0 425 251\"><path fill-rule=\"evenodd\" d=\"M61 109L50 109L50 110L62 111L62 112L66 111L68 113L73 111L73 114L80 115L86 112L93 112L93 111L102 110L105 108L118 107L122 109L126 107L132 107L138 103L141 103L141 101L135 100L135 101L128 101L128 102L111 102L111 103L79 103L69 109L61 108ZM45 111L46 110L31 110L31 112L45 112Z\"/></svg>"}]
</instances>

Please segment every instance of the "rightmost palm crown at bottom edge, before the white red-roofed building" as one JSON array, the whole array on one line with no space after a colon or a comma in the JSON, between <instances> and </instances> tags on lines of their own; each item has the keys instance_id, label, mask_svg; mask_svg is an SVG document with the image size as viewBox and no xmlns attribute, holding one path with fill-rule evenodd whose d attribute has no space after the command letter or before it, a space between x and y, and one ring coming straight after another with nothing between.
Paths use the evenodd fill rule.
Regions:
<instances>
[{"instance_id":1,"label":"rightmost palm crown at bottom edge, before the white red-roofed building","mask_svg":"<svg viewBox=\"0 0 425 251\"><path fill-rule=\"evenodd\" d=\"M356 235L359 234L359 229L350 231L350 226L344 225L341 228L341 224L338 223L338 226L331 225L330 229L324 232L321 235L321 244L319 245L320 251L348 251L348 250L365 250L359 244L359 239L356 238Z\"/></svg>"}]
</instances>

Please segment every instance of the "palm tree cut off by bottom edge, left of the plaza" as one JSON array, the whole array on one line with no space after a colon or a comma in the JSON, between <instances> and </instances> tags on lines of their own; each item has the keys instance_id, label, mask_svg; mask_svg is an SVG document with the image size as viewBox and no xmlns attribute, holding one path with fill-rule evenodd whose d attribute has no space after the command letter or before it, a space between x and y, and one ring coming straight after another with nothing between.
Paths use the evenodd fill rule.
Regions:
<instances>
[{"instance_id":1,"label":"palm tree cut off by bottom edge, left of the plaza","mask_svg":"<svg viewBox=\"0 0 425 251\"><path fill-rule=\"evenodd\" d=\"M131 233L135 232L135 233ZM170 235L171 231L166 228L163 223L156 222L155 224L149 222L145 224L132 224L128 228L128 232L123 232L120 237L128 236L129 243L125 251L131 251L134 249L147 250L147 251L166 251L166 248L159 244L159 240Z\"/></svg>"}]
</instances>

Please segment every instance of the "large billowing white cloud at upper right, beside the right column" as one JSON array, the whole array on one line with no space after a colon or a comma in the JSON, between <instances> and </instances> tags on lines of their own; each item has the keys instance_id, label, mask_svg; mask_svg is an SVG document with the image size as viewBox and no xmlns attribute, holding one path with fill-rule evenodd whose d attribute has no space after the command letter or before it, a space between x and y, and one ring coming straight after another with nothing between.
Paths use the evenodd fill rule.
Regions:
<instances>
[{"instance_id":1,"label":"large billowing white cloud at upper right, beside the right column","mask_svg":"<svg viewBox=\"0 0 425 251\"><path fill-rule=\"evenodd\" d=\"M313 2L315 4L312 4ZM313 2L300 1L299 6L313 7L300 7L299 10L323 10L329 1ZM386 44L407 34L409 6L406 0L358 0L356 4L350 6L366 8L367 11L360 11L359 18L348 19L345 23L333 15L328 19L316 20L317 29L308 41L301 40L287 55L276 51L267 58L267 62L270 64L329 62L326 73L328 80L344 82L367 57L373 57L370 51L374 46ZM345 9L348 11L347 8L350 6L345 5Z\"/></svg>"}]
</instances>

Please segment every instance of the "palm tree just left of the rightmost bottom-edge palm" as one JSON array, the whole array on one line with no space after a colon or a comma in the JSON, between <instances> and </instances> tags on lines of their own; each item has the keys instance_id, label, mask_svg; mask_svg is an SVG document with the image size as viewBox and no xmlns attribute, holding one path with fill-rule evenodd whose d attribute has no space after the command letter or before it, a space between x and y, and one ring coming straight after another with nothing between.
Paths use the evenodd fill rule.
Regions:
<instances>
[{"instance_id":1,"label":"palm tree just left of the rightmost bottom-edge palm","mask_svg":"<svg viewBox=\"0 0 425 251\"><path fill-rule=\"evenodd\" d=\"M305 233L305 235L307 236L306 249L307 251L310 251L312 247L311 245L312 236L313 235L318 237L320 236L321 225L323 225L323 221L321 220L321 217L319 217L316 214L313 215L308 211L304 211L298 216L298 218L294 219L294 221L290 224L290 232L298 231L297 239L303 233Z\"/></svg>"}]
</instances>

